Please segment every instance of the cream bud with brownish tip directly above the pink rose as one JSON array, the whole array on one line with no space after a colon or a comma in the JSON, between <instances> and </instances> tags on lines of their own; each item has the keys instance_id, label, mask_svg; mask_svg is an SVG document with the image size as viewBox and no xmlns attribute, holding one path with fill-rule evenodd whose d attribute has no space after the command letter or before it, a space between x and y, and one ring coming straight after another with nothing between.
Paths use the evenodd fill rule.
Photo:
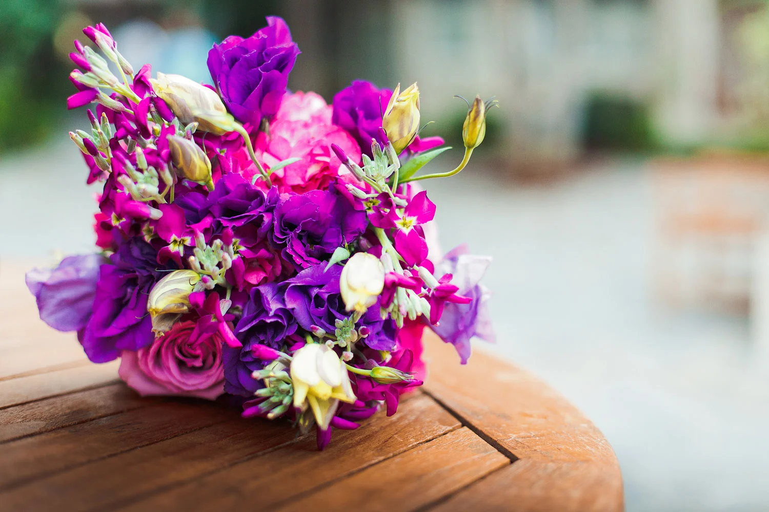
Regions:
<instances>
[{"instance_id":1,"label":"cream bud with brownish tip directly above the pink rose","mask_svg":"<svg viewBox=\"0 0 769 512\"><path fill-rule=\"evenodd\" d=\"M147 299L153 332L168 331L181 315L189 312L189 296L198 281L200 275L193 270L174 270L155 283Z\"/></svg>"}]
</instances>

